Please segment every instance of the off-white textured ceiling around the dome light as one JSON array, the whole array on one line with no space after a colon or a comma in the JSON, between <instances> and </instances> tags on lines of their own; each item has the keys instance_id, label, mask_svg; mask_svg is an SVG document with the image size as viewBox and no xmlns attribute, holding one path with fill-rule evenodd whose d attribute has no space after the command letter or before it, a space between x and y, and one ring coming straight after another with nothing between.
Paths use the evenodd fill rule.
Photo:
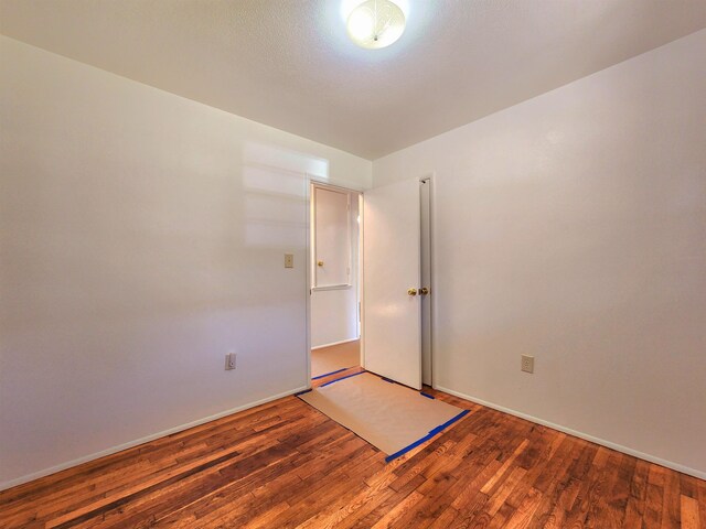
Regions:
<instances>
[{"instance_id":1,"label":"off-white textured ceiling around the dome light","mask_svg":"<svg viewBox=\"0 0 706 529\"><path fill-rule=\"evenodd\" d=\"M376 51L336 0L1 0L0 32L376 159L706 26L704 0L407 2Z\"/></svg>"}]
</instances>

